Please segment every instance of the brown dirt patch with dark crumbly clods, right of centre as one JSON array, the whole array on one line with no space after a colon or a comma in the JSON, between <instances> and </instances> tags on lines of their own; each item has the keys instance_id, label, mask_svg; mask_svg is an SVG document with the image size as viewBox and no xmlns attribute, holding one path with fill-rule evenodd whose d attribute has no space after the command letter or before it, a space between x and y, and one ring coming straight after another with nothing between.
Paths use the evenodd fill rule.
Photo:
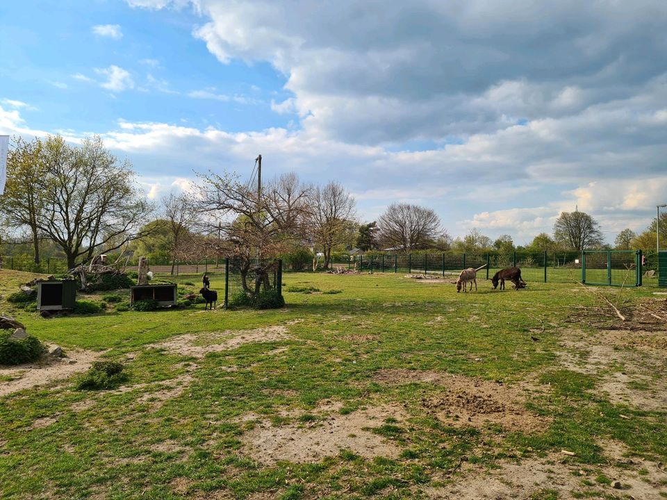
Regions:
<instances>
[{"instance_id":1,"label":"brown dirt patch with dark crumbly clods, right of centre","mask_svg":"<svg viewBox=\"0 0 667 500\"><path fill-rule=\"evenodd\" d=\"M508 431L534 432L550 422L527 410L526 391L520 387L463 375L407 369L380 370L373 380L395 385L432 383L443 387L443 392L422 398L421 404L431 415L457 426L482 428L500 424Z\"/></svg>"}]
</instances>

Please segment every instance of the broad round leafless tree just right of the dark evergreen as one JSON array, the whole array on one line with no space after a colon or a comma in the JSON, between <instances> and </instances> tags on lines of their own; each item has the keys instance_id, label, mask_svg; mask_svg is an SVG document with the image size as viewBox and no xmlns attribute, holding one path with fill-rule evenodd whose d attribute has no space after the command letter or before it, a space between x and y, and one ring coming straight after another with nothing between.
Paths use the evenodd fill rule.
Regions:
<instances>
[{"instance_id":1,"label":"broad round leafless tree just right of the dark evergreen","mask_svg":"<svg viewBox=\"0 0 667 500\"><path fill-rule=\"evenodd\" d=\"M428 248L446 234L434 210L409 203L392 203L377 227L381 242L404 251Z\"/></svg>"}]
</instances>

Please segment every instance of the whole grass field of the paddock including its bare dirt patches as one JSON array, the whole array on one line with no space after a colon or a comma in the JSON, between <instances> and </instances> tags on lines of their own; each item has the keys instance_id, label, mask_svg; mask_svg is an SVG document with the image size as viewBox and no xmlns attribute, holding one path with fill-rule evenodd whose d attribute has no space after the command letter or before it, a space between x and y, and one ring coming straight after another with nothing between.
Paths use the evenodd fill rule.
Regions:
<instances>
[{"instance_id":1,"label":"whole grass field of the paddock including its bare dirt patches","mask_svg":"<svg viewBox=\"0 0 667 500\"><path fill-rule=\"evenodd\" d=\"M0 271L0 295L29 278ZM302 291L269 311L42 319L0 301L80 359L0 396L0 498L667 497L664 324L593 321L598 299L573 283L283 282ZM623 294L630 322L664 301L599 290ZM94 357L129 381L75 390ZM0 391L47 368L3 369Z\"/></svg>"}]
</instances>

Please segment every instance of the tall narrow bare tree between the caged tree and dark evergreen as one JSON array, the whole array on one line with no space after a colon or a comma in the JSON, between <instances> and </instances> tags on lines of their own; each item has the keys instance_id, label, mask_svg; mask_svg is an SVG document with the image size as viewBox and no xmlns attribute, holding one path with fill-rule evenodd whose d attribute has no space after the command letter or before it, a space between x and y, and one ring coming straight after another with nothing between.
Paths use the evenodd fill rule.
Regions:
<instances>
[{"instance_id":1,"label":"tall narrow bare tree between the caged tree and dark evergreen","mask_svg":"<svg viewBox=\"0 0 667 500\"><path fill-rule=\"evenodd\" d=\"M312 205L311 235L324 253L324 269L328 269L331 251L354 240L356 202L342 185L331 181L324 188L315 188Z\"/></svg>"}]
</instances>

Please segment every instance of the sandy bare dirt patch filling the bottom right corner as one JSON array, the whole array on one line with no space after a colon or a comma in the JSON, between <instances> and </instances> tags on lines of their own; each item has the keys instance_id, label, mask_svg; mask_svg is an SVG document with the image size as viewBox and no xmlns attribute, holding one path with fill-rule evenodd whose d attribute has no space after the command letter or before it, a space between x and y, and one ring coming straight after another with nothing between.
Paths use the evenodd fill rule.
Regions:
<instances>
[{"instance_id":1,"label":"sandy bare dirt patch filling the bottom right corner","mask_svg":"<svg viewBox=\"0 0 667 500\"><path fill-rule=\"evenodd\" d=\"M667 474L657 466L649 469L645 465L588 469L582 468L582 465L570 465L566 458L552 453L546 458L503 462L499 469L493 471L471 469L456 476L452 483L427 487L422 492L432 499L456 500L527 500L541 498L540 493L544 494L545 490L555 490L559 498L566 499L664 498L660 493L667 490L663 485ZM600 474L610 478L611 484L597 483L595 479Z\"/></svg>"}]
</instances>

